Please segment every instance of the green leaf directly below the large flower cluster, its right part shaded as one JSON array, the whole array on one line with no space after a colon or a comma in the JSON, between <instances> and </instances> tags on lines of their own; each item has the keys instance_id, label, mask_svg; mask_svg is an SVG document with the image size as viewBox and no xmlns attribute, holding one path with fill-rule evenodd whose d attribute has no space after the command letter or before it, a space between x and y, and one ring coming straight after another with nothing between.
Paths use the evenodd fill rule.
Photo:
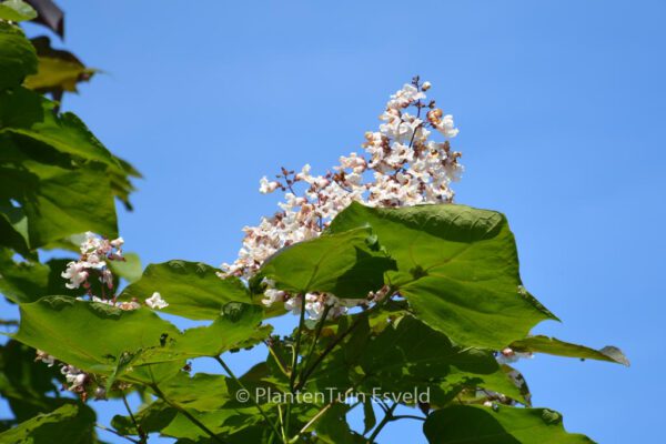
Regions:
<instances>
[{"instance_id":1,"label":"green leaf directly below the large flower cluster, its right part shaded","mask_svg":"<svg viewBox=\"0 0 666 444\"><path fill-rule=\"evenodd\" d=\"M364 299L382 287L384 272L395 270L394 262L377 250L376 239L366 228L323 234L282 249L264 262L260 275L293 293Z\"/></svg>"}]
</instances>

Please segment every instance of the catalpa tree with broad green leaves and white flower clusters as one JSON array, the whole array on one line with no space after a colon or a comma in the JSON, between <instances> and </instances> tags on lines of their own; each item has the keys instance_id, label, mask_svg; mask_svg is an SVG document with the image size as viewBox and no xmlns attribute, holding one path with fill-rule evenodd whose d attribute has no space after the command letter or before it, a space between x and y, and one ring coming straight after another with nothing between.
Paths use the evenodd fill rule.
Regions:
<instances>
[{"instance_id":1,"label":"catalpa tree with broad green leaves and white flower clusters","mask_svg":"<svg viewBox=\"0 0 666 444\"><path fill-rule=\"evenodd\" d=\"M375 443L396 421L422 422L415 441L433 444L591 442L533 408L512 364L628 362L613 346L529 334L557 317L523 285L506 216L453 203L458 131L428 82L391 95L363 151L325 173L263 178L260 191L284 199L243 229L234 262L141 271L113 208L135 171L28 88L41 64L13 21L31 10L0 6L0 291L20 310L0 361L16 415L0 442L95 443L97 427L133 443ZM77 256L39 262L51 248ZM204 325L181 330L162 313ZM290 334L274 334L279 316ZM255 346L265 360L235 374L228 353ZM200 357L220 372L193 372ZM58 387L69 395L49 395ZM128 413L100 424L90 405L109 398Z\"/></svg>"}]
</instances>

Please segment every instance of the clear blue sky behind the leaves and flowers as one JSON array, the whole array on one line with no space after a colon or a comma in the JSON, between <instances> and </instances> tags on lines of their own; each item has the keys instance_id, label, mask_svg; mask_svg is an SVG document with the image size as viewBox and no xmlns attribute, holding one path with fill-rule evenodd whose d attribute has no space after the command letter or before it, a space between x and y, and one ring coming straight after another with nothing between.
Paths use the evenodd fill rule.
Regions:
<instances>
[{"instance_id":1,"label":"clear blue sky behind the leaves and flowers","mask_svg":"<svg viewBox=\"0 0 666 444\"><path fill-rule=\"evenodd\" d=\"M602 443L657 442L664 1L58 3L64 46L104 70L64 108L145 175L120 220L145 263L233 260L241 228L274 210L262 175L360 150L421 74L461 129L457 202L508 216L525 285L564 320L537 332L632 360L539 355L519 366L534 404ZM381 442L418 434L401 422Z\"/></svg>"}]
</instances>

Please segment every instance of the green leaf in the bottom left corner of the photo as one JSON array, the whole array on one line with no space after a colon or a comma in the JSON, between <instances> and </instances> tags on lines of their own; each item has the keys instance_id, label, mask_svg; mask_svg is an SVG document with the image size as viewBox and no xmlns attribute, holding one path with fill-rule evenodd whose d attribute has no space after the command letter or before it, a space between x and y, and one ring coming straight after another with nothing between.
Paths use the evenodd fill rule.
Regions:
<instances>
[{"instance_id":1,"label":"green leaf in the bottom left corner of the photo","mask_svg":"<svg viewBox=\"0 0 666 444\"><path fill-rule=\"evenodd\" d=\"M85 406L65 404L51 413L43 413L17 427L0 433L1 443L14 444L92 444L94 413Z\"/></svg>"}]
</instances>

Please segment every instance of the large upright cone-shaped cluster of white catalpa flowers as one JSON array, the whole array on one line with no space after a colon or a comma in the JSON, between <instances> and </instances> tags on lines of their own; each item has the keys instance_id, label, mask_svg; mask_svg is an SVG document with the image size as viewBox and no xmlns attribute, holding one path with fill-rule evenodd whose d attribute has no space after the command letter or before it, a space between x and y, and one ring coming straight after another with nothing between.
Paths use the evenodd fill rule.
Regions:
<instances>
[{"instance_id":1,"label":"large upright cone-shaped cluster of white catalpa flowers","mask_svg":"<svg viewBox=\"0 0 666 444\"><path fill-rule=\"evenodd\" d=\"M461 154L451 149L450 139L458 130L452 115L444 114L434 101L426 101L425 91L430 88L430 82L421 83L415 78L391 95L380 115L379 131L365 133L364 152L341 157L340 163L325 174L312 174L306 164L300 172L282 168L272 181L262 178L260 192L284 192L284 201L279 203L281 211L263 218L256 226L243 229L245 238L239 258L222 264L220 276L252 278L278 250L319 236L354 201L382 208L451 202L454 193L450 184L457 180L462 167ZM431 130L443 140L431 140ZM326 306L332 306L327 312L335 316L359 304L357 300L332 294L306 294L303 304L301 296L265 283L264 304L283 302L294 313L304 306L311 319L319 319ZM375 297L369 295L370 300Z\"/></svg>"}]
</instances>

